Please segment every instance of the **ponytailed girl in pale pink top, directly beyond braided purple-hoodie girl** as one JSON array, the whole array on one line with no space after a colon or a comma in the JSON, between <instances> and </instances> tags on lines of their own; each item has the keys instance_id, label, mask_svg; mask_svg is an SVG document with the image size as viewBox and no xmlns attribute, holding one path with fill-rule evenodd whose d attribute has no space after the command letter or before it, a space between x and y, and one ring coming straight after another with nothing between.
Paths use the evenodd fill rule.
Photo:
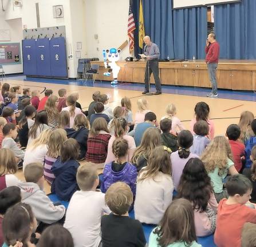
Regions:
<instances>
[{"instance_id":1,"label":"ponytailed girl in pale pink top, directly beyond braided purple-hoodie girl","mask_svg":"<svg viewBox=\"0 0 256 247\"><path fill-rule=\"evenodd\" d=\"M124 118L113 118L114 135L109 139L108 142L108 155L105 164L115 160L115 154L112 152L113 142L116 138L124 138L128 143L127 161L130 162L133 156L133 152L136 149L134 138L127 135L129 126Z\"/></svg>"}]
</instances>

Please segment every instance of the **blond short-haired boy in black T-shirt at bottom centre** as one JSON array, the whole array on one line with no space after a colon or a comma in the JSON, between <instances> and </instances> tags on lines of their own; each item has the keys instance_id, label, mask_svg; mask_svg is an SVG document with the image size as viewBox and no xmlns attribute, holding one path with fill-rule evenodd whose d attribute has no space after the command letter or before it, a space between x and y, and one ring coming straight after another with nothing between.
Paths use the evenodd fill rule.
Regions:
<instances>
[{"instance_id":1,"label":"blond short-haired boy in black T-shirt at bottom centre","mask_svg":"<svg viewBox=\"0 0 256 247\"><path fill-rule=\"evenodd\" d=\"M105 202L113 214L101 218L101 242L103 247L144 247L143 228L138 220L129 218L132 192L124 182L112 184L105 194Z\"/></svg>"}]
</instances>

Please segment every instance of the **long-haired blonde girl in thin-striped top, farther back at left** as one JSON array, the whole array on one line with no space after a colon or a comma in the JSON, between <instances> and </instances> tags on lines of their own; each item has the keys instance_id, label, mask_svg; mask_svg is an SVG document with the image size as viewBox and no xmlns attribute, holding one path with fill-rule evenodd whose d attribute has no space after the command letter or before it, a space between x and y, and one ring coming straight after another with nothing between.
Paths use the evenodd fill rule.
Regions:
<instances>
[{"instance_id":1,"label":"long-haired blonde girl in thin-striped top, farther back at left","mask_svg":"<svg viewBox=\"0 0 256 247\"><path fill-rule=\"evenodd\" d=\"M58 97L56 95L50 95L45 104L45 110L48 113L48 126L50 129L55 129L58 125L60 113L57 109Z\"/></svg>"}]
</instances>

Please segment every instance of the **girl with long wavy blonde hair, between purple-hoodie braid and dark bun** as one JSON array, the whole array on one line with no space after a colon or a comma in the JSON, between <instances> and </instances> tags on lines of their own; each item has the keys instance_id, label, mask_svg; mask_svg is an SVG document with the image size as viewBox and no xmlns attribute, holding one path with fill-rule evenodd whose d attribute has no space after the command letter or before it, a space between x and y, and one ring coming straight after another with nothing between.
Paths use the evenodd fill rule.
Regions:
<instances>
[{"instance_id":1,"label":"girl with long wavy blonde hair, between purple-hoodie braid and dark bun","mask_svg":"<svg viewBox=\"0 0 256 247\"><path fill-rule=\"evenodd\" d=\"M133 152L131 162L136 166L139 172L144 166L147 166L148 158L153 149L161 145L160 132L156 128L145 130L141 139L140 146Z\"/></svg>"}]
</instances>

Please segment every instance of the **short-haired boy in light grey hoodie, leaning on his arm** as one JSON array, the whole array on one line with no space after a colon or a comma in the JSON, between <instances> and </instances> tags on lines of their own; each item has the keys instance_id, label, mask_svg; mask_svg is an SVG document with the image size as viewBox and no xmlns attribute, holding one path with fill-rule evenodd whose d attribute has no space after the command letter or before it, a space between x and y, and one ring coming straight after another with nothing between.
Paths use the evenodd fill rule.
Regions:
<instances>
[{"instance_id":1,"label":"short-haired boy in light grey hoodie, leaning on his arm","mask_svg":"<svg viewBox=\"0 0 256 247\"><path fill-rule=\"evenodd\" d=\"M22 202L33 209L38 223L53 224L60 221L65 214L65 206L54 206L44 192L44 166L40 163L30 163L24 170L26 182L18 184L21 189Z\"/></svg>"}]
</instances>

